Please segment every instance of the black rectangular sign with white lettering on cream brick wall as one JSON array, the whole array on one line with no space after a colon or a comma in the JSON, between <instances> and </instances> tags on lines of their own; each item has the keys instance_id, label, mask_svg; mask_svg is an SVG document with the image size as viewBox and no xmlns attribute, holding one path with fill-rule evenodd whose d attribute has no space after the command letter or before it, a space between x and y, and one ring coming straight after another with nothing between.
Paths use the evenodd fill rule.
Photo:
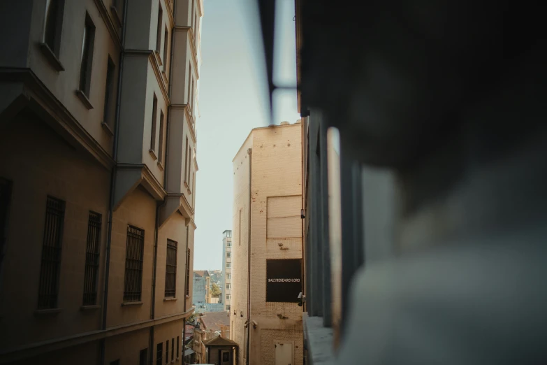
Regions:
<instances>
[{"instance_id":1,"label":"black rectangular sign with white lettering on cream brick wall","mask_svg":"<svg viewBox=\"0 0 547 365\"><path fill-rule=\"evenodd\" d=\"M298 303L302 292L302 259L266 260L266 301Z\"/></svg>"}]
</instances>

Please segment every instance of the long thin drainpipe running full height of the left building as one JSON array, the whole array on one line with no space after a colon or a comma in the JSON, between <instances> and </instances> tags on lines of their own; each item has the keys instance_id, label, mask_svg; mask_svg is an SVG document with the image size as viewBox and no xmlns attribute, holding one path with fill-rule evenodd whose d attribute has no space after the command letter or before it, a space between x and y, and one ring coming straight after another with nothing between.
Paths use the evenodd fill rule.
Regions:
<instances>
[{"instance_id":1,"label":"long thin drainpipe running full height of the left building","mask_svg":"<svg viewBox=\"0 0 547 365\"><path fill-rule=\"evenodd\" d=\"M116 185L116 164L118 153L118 138L119 138L119 104L122 100L122 84L124 73L124 50L125 50L125 34L127 24L127 6L129 1L124 0L124 15L122 20L122 50L119 52L119 70L118 70L118 85L116 95L116 114L114 118L114 145L112 146L112 157L114 158L114 167L110 176L110 197L108 203L108 234L106 236L106 255L105 255L105 278L103 292L103 318L101 320L101 329L106 329L106 315L108 309L108 278L110 275L110 245L112 244L112 215L114 215L114 189ZM101 364L105 363L105 339L101 340Z\"/></svg>"}]
</instances>

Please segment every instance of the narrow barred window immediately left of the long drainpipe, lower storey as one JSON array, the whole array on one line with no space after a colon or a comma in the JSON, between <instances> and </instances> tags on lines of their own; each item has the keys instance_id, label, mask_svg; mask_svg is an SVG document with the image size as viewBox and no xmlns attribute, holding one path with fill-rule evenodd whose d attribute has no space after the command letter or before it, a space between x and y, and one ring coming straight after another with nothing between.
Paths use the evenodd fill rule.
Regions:
<instances>
[{"instance_id":1,"label":"narrow barred window immediately left of the long drainpipe, lower storey","mask_svg":"<svg viewBox=\"0 0 547 365\"><path fill-rule=\"evenodd\" d=\"M87 245L85 250L84 306L97 302L99 275L99 250L101 248L101 215L89 212L87 220Z\"/></svg>"}]
</instances>

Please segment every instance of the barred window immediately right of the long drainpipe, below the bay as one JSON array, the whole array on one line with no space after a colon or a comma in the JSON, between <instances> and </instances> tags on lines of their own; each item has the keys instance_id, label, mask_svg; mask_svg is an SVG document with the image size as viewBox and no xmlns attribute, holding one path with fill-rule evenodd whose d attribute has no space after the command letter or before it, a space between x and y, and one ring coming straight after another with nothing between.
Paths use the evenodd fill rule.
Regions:
<instances>
[{"instance_id":1,"label":"barred window immediately right of the long drainpipe, below the bay","mask_svg":"<svg viewBox=\"0 0 547 365\"><path fill-rule=\"evenodd\" d=\"M140 301L143 287L144 248L144 229L128 225L125 251L124 301Z\"/></svg>"}]
</instances>

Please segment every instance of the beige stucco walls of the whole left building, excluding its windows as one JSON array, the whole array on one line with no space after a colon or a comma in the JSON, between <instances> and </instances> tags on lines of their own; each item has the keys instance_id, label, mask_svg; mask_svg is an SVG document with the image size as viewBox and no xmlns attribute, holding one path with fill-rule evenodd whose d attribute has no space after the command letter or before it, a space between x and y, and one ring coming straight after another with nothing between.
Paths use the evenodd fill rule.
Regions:
<instances>
[{"instance_id":1,"label":"beige stucco walls of the whole left building, excluding its windows","mask_svg":"<svg viewBox=\"0 0 547 365\"><path fill-rule=\"evenodd\" d=\"M195 1L194 1L195 2ZM139 173L133 175L118 174L117 181L126 187L119 196L119 205L112 215L112 244L110 251L110 275L108 288L108 308L103 306L103 281L105 273L105 251L108 234L108 205L110 195L111 168L115 164L112 157L112 132L101 126L103 121L104 92L108 57L115 64L113 75L114 90L112 103L117 95L118 69L120 65L120 27L110 6L112 0L64 1L64 15L61 32L61 49L59 61L64 71L56 71L45 57L38 43L43 40L45 15L45 0L16 1L9 6L2 5L0 20L8 26L17 24L17 32L0 35L1 40L8 39L10 48L5 55L0 56L0 65L10 68L6 79L20 77L22 73L29 75L17 83L0 83L0 92L6 101L0 102L0 113L17 96L25 93L26 104L23 112L10 120L0 120L0 152L5 158L0 159L0 177L13 182L13 192L10 197L8 212L8 236L6 237L5 254L0 273L0 352L13 350L17 346L28 346L31 351L44 352L39 358L26 359L25 363L87 364L98 362L99 342L90 340L85 345L74 345L70 340L62 350L48 352L55 341L66 336L78 336L83 333L101 329L101 314L108 314L106 332L110 327L122 324L135 324L149 320L152 304L152 265L154 253L154 227L156 222L156 206L163 199L164 171L149 154L149 141L152 120L152 92L158 99L156 118L156 138L159 139L160 110L165 116L164 124L170 120L168 115L169 98L161 91L161 85L168 90L168 81L161 71L166 66L156 68L155 59L150 57L156 43L157 9L163 8L163 29L173 29L173 18L168 8L170 1L149 0L131 2L128 8L126 29L126 52L124 58L123 87L121 92L119 120L118 166L137 166L145 164L152 173L152 180L158 194L153 198L142 186L143 178ZM177 7L182 10L191 7L191 0L177 1ZM194 10L197 5L194 3ZM122 10L122 7L119 6ZM9 11L7 11L9 10ZM89 13L95 26L92 76L89 101L93 108L88 109L76 96L80 76L82 52L82 35L86 12ZM122 15L120 13L119 15ZM190 19L187 16L187 20ZM178 25L185 25L187 20L177 20ZM184 23L184 24L181 24ZM6 29L2 25L1 29ZM4 32L6 33L6 32ZM189 31L181 34L186 38L173 48L173 55L180 63L169 65L171 70L181 66L185 69L182 78L173 77L173 90L182 91L182 101L187 103L188 80L187 72L190 62L194 62L191 43L188 41ZM170 34L171 36L171 34ZM161 50L165 48L164 37L161 37ZM168 37L170 42L170 37ZM9 54L8 54L9 53ZM163 52L161 52L163 55ZM170 52L168 52L170 57ZM166 60L166 64L169 63ZM195 62L194 62L195 64ZM192 66L194 80L198 79L197 67ZM33 74L36 76L34 78ZM28 80L32 80L29 82ZM36 80L36 81L34 81ZM178 87L178 88L177 88ZM197 87L194 83L194 87ZM24 88L27 88L26 90ZM194 95L196 95L194 91ZM196 97L196 96L195 96ZM51 99L50 99L51 98ZM28 100L31 99L30 102ZM18 105L18 104L17 104ZM19 106L17 106L19 108ZM112 118L115 108L111 108ZM175 108L172 108L174 110ZM196 143L191 136L191 125L183 113L173 117L180 118L181 132L174 131L174 138L168 145L179 153L179 160L184 169L184 139L189 137L190 150ZM36 114L35 114L36 113ZM9 114L8 116L12 116ZM39 116L38 116L39 115ZM2 115L4 116L4 115ZM6 118L7 119L7 118ZM6 123L3 123L7 121ZM113 127L113 126L112 126ZM173 133L173 131L172 131ZM178 145L177 145L178 143ZM159 141L156 140L156 150ZM87 152L85 152L87 150ZM82 152L83 151L83 152ZM89 153L91 152L91 153ZM173 156L173 154L170 154ZM165 164L164 164L165 165ZM120 169L118 169L120 171ZM191 173L197 171L197 164L191 161ZM140 171L138 171L140 172ZM184 170L182 170L184 173ZM191 176L191 173L189 174ZM173 169L170 176L176 176ZM179 173L180 175L180 173ZM138 176L138 178L134 178ZM148 176L147 176L148 177ZM123 181L124 178L134 178ZM182 192L194 208L196 188L194 181L189 182L191 192L182 181L177 189L169 192ZM116 190L117 192L118 190ZM59 282L59 308L50 313L36 313L38 298L38 280L40 276L41 252L43 244L45 203L47 196L52 195L66 201L64 229L61 253L61 274ZM118 203L118 202L117 202ZM87 229L89 210L102 215L101 250L99 266L99 288L97 306L80 308L83 296L83 278L85 274L85 256L87 244ZM190 296L185 298L186 248L194 255L194 217L185 220L180 213L173 213L158 231L158 257L156 271L155 317L182 313L184 304L191 308ZM145 230L145 249L143 262L142 302L137 306L122 306L125 274L126 232L127 225ZM188 227L187 227L187 224ZM188 231L188 243L187 241ZM177 300L163 301L165 285L166 240L173 239L178 243L177 267ZM193 259L190 262L193 271ZM155 329L159 337L165 332L166 338L179 333L182 336L182 320L161 324ZM168 327L168 329L164 329ZM149 346L149 329L138 329L133 333L108 337L106 363L120 359L122 364L138 363L139 350ZM156 343L159 341L156 337ZM163 338L161 341L165 341ZM38 346L39 341L51 340L55 345ZM154 344L155 345L155 344ZM149 349L154 351L155 349ZM78 352L80 352L78 358ZM66 354L61 357L59 354ZM120 355L121 354L121 355ZM10 355L11 356L11 355ZM27 350L17 350L13 357L30 357ZM56 360L57 359L57 362Z\"/></svg>"}]
</instances>

